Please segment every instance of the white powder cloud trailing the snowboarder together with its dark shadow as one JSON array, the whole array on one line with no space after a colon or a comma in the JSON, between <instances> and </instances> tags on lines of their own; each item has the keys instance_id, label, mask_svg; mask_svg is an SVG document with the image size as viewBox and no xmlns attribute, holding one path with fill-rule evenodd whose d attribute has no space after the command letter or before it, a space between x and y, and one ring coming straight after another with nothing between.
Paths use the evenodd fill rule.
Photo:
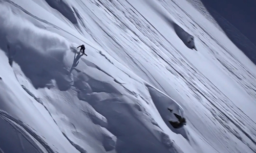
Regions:
<instances>
[{"instance_id":1,"label":"white powder cloud trailing the snowboarder together with its dark shadow","mask_svg":"<svg viewBox=\"0 0 256 153\"><path fill-rule=\"evenodd\" d=\"M35 88L47 87L53 80L60 90L71 87L72 75L63 63L71 49L65 38L35 27L3 5L0 20L0 47L11 66L16 62Z\"/></svg>"}]
</instances>

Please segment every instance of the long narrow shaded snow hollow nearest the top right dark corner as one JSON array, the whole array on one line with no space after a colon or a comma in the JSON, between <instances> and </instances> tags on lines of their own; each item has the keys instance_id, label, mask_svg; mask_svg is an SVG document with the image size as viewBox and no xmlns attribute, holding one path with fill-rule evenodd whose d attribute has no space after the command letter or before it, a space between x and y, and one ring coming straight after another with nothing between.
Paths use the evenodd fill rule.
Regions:
<instances>
[{"instance_id":1,"label":"long narrow shaded snow hollow nearest the top right dark corner","mask_svg":"<svg viewBox=\"0 0 256 153\"><path fill-rule=\"evenodd\" d=\"M161 8L157 6L157 4L154 4L152 1L146 1L144 0L169 26L170 28L175 30L175 33L177 36L181 39L181 41L190 49L195 49L195 39L194 36L187 33L184 29L182 29L177 23L174 22L172 18L167 16Z\"/></svg>"}]
</instances>

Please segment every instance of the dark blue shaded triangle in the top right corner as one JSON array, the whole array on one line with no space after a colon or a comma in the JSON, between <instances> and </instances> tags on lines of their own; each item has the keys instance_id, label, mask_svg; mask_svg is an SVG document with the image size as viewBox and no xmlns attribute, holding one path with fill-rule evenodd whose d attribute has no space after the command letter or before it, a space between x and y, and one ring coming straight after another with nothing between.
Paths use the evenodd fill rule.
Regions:
<instances>
[{"instance_id":1,"label":"dark blue shaded triangle in the top right corner","mask_svg":"<svg viewBox=\"0 0 256 153\"><path fill-rule=\"evenodd\" d=\"M227 37L256 64L256 1L201 0L201 2Z\"/></svg>"}]
</instances>

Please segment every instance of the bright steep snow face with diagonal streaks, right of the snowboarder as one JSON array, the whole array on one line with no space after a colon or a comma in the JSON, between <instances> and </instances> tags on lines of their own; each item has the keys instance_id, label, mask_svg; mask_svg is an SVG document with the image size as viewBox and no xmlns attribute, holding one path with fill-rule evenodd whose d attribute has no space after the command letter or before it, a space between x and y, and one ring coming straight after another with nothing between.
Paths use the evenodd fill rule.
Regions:
<instances>
[{"instance_id":1,"label":"bright steep snow face with diagonal streaks, right of the snowboarder","mask_svg":"<svg viewBox=\"0 0 256 153\"><path fill-rule=\"evenodd\" d=\"M163 24L158 14L148 12L150 7L143 1L129 1L130 4L120 1L100 2L100 7L95 7L93 13L101 18L108 18L108 14L116 17L113 17L112 22L101 19L98 31L102 32L102 36L110 36L106 38L107 43L114 40L118 44L109 47L122 50L118 54L126 63L133 63L130 67L138 75L172 97L175 96L172 95L172 87L175 87L186 101L180 104L186 110L187 117L197 126L196 130L220 152L223 152L222 149L224 152L237 151L238 148L241 151L244 148L254 150L255 138L251 136L255 133L255 112L251 108L255 107L255 65L222 32L187 3L160 1L166 12L174 16L172 18L182 23L186 31L197 36L197 49L200 47L201 52L195 54L184 47L175 31ZM125 32L118 31L120 28L116 20ZM192 28L189 26L191 23L194 24ZM99 32L98 35L101 34ZM143 55L143 58L139 55ZM205 121L202 123L202 120ZM246 126L239 125L244 122L247 122ZM208 130L208 127L211 129ZM223 131L228 134L223 134ZM237 131L241 133L237 134ZM243 143L244 140L241 143L241 137L249 143Z\"/></svg>"}]
</instances>

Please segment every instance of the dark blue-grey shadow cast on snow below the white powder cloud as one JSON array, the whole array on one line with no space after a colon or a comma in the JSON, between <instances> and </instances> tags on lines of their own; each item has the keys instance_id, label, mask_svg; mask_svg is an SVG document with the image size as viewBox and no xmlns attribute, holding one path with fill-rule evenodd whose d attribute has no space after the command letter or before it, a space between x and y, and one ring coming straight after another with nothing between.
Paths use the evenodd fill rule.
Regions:
<instances>
[{"instance_id":1,"label":"dark blue-grey shadow cast on snow below the white powder cloud","mask_svg":"<svg viewBox=\"0 0 256 153\"><path fill-rule=\"evenodd\" d=\"M53 80L61 91L71 87L73 82L71 75L63 66L65 49L49 48L51 53L45 56L21 43L10 43L8 46L11 47L4 50L8 53L9 63L11 65L13 61L17 63L36 89L50 87Z\"/></svg>"}]
</instances>

